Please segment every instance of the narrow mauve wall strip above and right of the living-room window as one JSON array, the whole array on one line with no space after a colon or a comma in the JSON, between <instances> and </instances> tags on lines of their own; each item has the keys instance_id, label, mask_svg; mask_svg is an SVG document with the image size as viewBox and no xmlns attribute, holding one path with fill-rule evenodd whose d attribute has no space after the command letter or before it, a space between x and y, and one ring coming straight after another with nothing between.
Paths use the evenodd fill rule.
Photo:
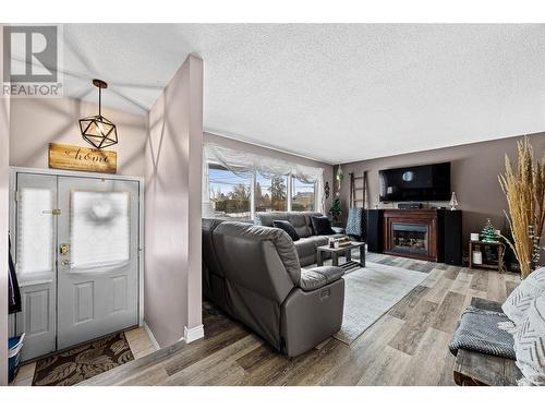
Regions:
<instances>
[{"instance_id":1,"label":"narrow mauve wall strip above and right of the living-room window","mask_svg":"<svg viewBox=\"0 0 545 409\"><path fill-rule=\"evenodd\" d=\"M287 160L287 161L291 161L291 163L295 163L295 164L301 164L304 166L313 166L313 167L317 167L317 168L323 168L324 169L324 184L325 184L325 182L329 182L329 188L330 188L329 199L327 199L325 202L326 213L329 209L329 205L331 204L331 199L334 195L334 189L332 189L332 184L331 184L332 171L334 171L332 165L324 164L324 163L317 161L317 160L306 159L306 158L303 158L301 156L287 154L284 152L280 152L280 151L276 151L276 149L271 149L268 147L258 146L258 145L254 145L254 144L250 144L250 143L245 143L245 142L241 142L241 141L235 141L235 140L232 140L229 137L223 137L223 136L215 135L213 133L207 133L207 132L204 133L203 142L204 143L215 143L215 144L218 144L218 145L221 145L225 147L229 147L231 149L249 152L252 154L267 156L267 157L277 158L277 159L282 159L282 160Z\"/></svg>"}]
</instances>

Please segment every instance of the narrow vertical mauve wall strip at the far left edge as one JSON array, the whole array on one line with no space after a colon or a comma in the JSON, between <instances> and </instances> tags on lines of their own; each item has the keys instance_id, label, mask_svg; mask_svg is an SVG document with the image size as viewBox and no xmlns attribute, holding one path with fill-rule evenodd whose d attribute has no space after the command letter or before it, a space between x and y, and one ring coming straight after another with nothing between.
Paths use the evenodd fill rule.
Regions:
<instances>
[{"instance_id":1,"label":"narrow vertical mauve wall strip at the far left edge","mask_svg":"<svg viewBox=\"0 0 545 409\"><path fill-rule=\"evenodd\" d=\"M0 24L0 44L3 44ZM0 59L0 79L3 63ZM0 98L0 386L8 385L8 229L9 229L10 98Z\"/></svg>"}]
</instances>

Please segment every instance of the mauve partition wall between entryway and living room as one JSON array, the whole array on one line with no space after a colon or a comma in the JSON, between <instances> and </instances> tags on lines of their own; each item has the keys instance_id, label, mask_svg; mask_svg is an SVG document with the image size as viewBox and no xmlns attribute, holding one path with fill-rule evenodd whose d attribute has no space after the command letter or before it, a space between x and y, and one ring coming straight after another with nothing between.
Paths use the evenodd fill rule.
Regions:
<instances>
[{"instance_id":1,"label":"mauve partition wall between entryway and living room","mask_svg":"<svg viewBox=\"0 0 545 409\"><path fill-rule=\"evenodd\" d=\"M149 111L144 318L160 347L202 328L203 61L190 56Z\"/></svg>"}]
</instances>

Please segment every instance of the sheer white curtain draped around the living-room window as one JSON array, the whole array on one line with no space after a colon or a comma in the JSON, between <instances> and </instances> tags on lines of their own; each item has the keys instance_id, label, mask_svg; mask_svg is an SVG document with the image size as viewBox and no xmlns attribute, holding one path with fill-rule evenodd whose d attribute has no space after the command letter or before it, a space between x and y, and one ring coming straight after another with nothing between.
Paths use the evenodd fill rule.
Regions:
<instances>
[{"instance_id":1,"label":"sheer white curtain draped around the living-room window","mask_svg":"<svg viewBox=\"0 0 545 409\"><path fill-rule=\"evenodd\" d=\"M203 215L209 216L210 185L208 164L219 164L234 175L259 173L264 178L272 178L291 173L304 183L316 184L317 210L324 213L324 169L299 165L281 159L230 149L216 144L205 144L203 149Z\"/></svg>"}]
</instances>

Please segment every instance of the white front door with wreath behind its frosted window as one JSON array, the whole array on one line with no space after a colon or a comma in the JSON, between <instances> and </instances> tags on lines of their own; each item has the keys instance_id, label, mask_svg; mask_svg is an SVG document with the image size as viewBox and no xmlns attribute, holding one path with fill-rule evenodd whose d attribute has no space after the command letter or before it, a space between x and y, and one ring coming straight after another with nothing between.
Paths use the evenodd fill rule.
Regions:
<instances>
[{"instance_id":1,"label":"white front door with wreath behind its frosted window","mask_svg":"<svg viewBox=\"0 0 545 409\"><path fill-rule=\"evenodd\" d=\"M138 183L59 178L57 348L138 323Z\"/></svg>"}]
</instances>

